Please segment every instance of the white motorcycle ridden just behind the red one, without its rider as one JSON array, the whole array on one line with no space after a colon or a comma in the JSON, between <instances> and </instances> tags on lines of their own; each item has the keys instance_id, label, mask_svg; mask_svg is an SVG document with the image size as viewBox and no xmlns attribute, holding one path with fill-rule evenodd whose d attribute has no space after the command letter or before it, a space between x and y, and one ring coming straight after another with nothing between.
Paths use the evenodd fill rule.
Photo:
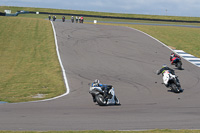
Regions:
<instances>
[{"instance_id":1,"label":"white motorcycle ridden just behind the red one, without its rider","mask_svg":"<svg viewBox=\"0 0 200 133\"><path fill-rule=\"evenodd\" d=\"M163 73L163 82L167 87L171 88L171 91L175 93L180 93L183 90L181 89L180 82L178 80L178 76L175 74L170 73L168 70L166 70Z\"/></svg>"}]
</instances>

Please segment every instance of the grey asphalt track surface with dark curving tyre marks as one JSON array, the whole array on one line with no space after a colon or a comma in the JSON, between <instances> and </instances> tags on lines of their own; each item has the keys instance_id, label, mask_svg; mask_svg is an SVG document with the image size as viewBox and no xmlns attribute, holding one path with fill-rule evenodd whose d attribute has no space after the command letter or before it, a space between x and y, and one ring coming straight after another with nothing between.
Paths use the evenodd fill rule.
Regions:
<instances>
[{"instance_id":1,"label":"grey asphalt track surface with dark curving tyre marks","mask_svg":"<svg viewBox=\"0 0 200 133\"><path fill-rule=\"evenodd\" d=\"M54 22L69 95L46 102L0 104L0 130L199 129L200 69L183 60L183 93L155 72L171 51L127 27ZM172 66L172 68L174 68ZM112 84L121 106L92 102L89 83Z\"/></svg>"}]
</instances>

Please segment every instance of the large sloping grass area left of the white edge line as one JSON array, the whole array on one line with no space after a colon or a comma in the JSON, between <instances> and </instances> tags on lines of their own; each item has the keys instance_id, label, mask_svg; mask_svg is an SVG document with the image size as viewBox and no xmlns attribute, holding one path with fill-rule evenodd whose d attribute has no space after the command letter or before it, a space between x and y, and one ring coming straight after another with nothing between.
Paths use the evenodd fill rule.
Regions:
<instances>
[{"instance_id":1,"label":"large sloping grass area left of the white edge line","mask_svg":"<svg viewBox=\"0 0 200 133\"><path fill-rule=\"evenodd\" d=\"M65 92L49 21L0 17L0 101L39 100ZM44 98L42 98L44 99Z\"/></svg>"}]
</instances>

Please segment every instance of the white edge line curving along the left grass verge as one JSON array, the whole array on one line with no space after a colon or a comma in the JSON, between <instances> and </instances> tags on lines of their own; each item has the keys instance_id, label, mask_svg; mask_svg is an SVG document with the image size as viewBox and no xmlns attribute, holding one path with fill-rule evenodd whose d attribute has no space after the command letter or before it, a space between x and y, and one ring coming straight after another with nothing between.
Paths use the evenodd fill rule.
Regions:
<instances>
[{"instance_id":1,"label":"white edge line curving along the left grass verge","mask_svg":"<svg viewBox=\"0 0 200 133\"><path fill-rule=\"evenodd\" d=\"M58 41L57 41L57 37L56 37L56 31L55 31L54 24L53 24L52 21L51 21L51 25L52 25L52 29L53 29L53 33L54 33L54 40L55 40L55 45L56 45L57 56L58 56L58 60L59 60L59 63L60 63L61 69L62 69L62 73L63 73L66 92L64 94L60 95L60 96L49 98L49 99L37 100L37 101L29 101L29 102L19 102L19 103L36 103L36 102L45 102L45 101L55 100L55 99L58 99L58 98L61 98L61 97L64 97L64 96L68 95L69 92L70 92L67 76L66 76L65 69L63 67L62 60L61 60L60 53L59 53ZM19 103L8 103L8 104L19 104Z\"/></svg>"}]
</instances>

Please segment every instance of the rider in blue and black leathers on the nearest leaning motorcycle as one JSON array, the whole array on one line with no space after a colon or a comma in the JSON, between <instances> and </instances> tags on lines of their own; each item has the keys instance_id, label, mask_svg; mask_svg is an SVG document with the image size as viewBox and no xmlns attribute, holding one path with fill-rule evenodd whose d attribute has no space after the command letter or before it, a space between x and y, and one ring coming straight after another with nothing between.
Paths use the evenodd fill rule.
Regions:
<instances>
[{"instance_id":1,"label":"rider in blue and black leathers on the nearest leaning motorcycle","mask_svg":"<svg viewBox=\"0 0 200 133\"><path fill-rule=\"evenodd\" d=\"M101 89L104 91L104 98L108 95L109 90L112 88L111 85L101 84L98 79L95 79L95 81L92 83L92 87L101 87ZM93 97L93 101L96 102L95 97Z\"/></svg>"}]
</instances>

